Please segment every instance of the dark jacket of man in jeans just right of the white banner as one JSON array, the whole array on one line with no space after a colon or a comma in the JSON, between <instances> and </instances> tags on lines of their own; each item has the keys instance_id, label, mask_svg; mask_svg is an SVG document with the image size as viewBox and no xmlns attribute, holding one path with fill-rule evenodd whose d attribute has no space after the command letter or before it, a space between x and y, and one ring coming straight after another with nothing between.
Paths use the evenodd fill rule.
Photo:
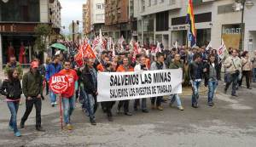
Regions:
<instances>
[{"instance_id":1,"label":"dark jacket of man in jeans just right of the white banner","mask_svg":"<svg viewBox=\"0 0 256 147\"><path fill-rule=\"evenodd\" d=\"M195 63L192 62L189 64L189 79L195 80L195 79L202 79L203 78L203 69L204 65L203 63Z\"/></svg>"}]
</instances>

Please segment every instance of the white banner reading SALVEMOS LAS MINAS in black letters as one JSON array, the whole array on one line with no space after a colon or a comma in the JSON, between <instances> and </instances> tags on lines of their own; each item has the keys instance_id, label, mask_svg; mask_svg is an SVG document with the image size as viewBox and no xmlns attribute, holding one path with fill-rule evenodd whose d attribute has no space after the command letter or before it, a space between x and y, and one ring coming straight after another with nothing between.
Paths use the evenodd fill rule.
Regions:
<instances>
[{"instance_id":1,"label":"white banner reading SALVEMOS LAS MINAS in black letters","mask_svg":"<svg viewBox=\"0 0 256 147\"><path fill-rule=\"evenodd\" d=\"M182 93L183 71L99 72L97 101L141 99Z\"/></svg>"}]
</instances>

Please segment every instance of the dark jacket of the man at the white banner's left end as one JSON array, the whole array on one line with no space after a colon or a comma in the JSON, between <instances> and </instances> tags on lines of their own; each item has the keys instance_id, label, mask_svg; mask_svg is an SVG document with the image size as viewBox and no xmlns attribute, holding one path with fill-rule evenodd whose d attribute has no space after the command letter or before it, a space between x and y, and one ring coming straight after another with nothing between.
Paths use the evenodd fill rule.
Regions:
<instances>
[{"instance_id":1,"label":"dark jacket of the man at the white banner's left end","mask_svg":"<svg viewBox=\"0 0 256 147\"><path fill-rule=\"evenodd\" d=\"M93 75L87 66L85 66L84 70L82 71L82 81L84 84L85 93L95 95L97 92L97 86L94 85Z\"/></svg>"}]
</instances>

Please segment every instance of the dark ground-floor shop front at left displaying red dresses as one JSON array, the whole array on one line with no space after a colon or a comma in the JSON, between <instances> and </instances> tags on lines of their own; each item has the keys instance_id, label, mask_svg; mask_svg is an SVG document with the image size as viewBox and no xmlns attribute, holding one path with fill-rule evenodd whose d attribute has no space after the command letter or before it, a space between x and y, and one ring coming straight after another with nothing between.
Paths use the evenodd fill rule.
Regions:
<instances>
[{"instance_id":1,"label":"dark ground-floor shop front at left displaying red dresses","mask_svg":"<svg viewBox=\"0 0 256 147\"><path fill-rule=\"evenodd\" d=\"M11 56L15 56L23 66L27 66L33 58L40 58L34 48L36 25L36 23L0 23L2 67L9 62Z\"/></svg>"}]
</instances>

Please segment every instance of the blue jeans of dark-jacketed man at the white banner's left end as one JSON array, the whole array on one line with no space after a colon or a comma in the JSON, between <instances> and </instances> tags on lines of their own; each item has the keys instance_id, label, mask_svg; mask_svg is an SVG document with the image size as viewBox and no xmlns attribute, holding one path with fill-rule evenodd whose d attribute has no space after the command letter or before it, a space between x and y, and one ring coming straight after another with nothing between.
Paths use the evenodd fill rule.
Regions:
<instances>
[{"instance_id":1,"label":"blue jeans of dark-jacketed man at the white banner's left end","mask_svg":"<svg viewBox=\"0 0 256 147\"><path fill-rule=\"evenodd\" d=\"M95 112L97 109L96 98L92 94L86 93L84 89L81 91L84 95L84 107L89 113L90 120L95 120Z\"/></svg>"}]
</instances>

